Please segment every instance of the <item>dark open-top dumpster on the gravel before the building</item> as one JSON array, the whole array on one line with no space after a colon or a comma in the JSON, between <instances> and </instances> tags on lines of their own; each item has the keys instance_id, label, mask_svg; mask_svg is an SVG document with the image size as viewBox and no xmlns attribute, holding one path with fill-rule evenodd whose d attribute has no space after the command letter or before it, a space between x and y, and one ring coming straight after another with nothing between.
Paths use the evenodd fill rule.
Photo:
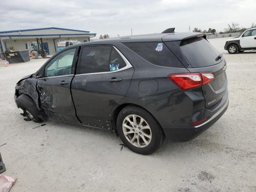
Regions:
<instances>
[{"instance_id":1,"label":"dark open-top dumpster on the gravel before the building","mask_svg":"<svg viewBox=\"0 0 256 192\"><path fill-rule=\"evenodd\" d=\"M4 52L3 54L9 63L22 63L30 61L28 50Z\"/></svg>"}]
</instances>

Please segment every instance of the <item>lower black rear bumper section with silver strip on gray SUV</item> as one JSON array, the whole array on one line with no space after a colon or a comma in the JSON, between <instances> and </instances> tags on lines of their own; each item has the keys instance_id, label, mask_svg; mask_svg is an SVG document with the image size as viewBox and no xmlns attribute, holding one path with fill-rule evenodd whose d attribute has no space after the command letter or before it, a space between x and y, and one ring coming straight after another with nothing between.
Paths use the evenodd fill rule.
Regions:
<instances>
[{"instance_id":1,"label":"lower black rear bumper section with silver strip on gray SUV","mask_svg":"<svg viewBox=\"0 0 256 192\"><path fill-rule=\"evenodd\" d=\"M196 138L212 126L228 109L228 99L218 112L204 123L194 127L162 127L168 140L186 142Z\"/></svg>"}]
</instances>

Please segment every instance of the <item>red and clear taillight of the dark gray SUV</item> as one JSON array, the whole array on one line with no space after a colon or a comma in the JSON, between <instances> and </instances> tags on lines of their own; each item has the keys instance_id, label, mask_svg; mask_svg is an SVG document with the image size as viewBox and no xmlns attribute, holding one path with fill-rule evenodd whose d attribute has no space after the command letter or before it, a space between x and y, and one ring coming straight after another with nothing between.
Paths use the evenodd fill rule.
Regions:
<instances>
[{"instance_id":1,"label":"red and clear taillight of the dark gray SUV","mask_svg":"<svg viewBox=\"0 0 256 192\"><path fill-rule=\"evenodd\" d=\"M176 84L182 91L206 85L210 81L214 80L214 78L215 76L212 72L168 75L168 79L174 82L174 84Z\"/></svg>"}]
</instances>

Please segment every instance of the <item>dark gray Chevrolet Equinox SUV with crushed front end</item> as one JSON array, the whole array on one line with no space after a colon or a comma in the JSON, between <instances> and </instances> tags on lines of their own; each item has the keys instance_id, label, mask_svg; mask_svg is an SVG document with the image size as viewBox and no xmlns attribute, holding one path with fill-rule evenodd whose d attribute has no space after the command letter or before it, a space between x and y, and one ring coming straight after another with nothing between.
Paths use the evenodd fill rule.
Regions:
<instances>
[{"instance_id":1,"label":"dark gray Chevrolet Equinox SUV with crushed front end","mask_svg":"<svg viewBox=\"0 0 256 192\"><path fill-rule=\"evenodd\" d=\"M203 33L128 36L68 46L16 84L25 120L111 130L140 154L188 141L228 108L226 61Z\"/></svg>"}]
</instances>

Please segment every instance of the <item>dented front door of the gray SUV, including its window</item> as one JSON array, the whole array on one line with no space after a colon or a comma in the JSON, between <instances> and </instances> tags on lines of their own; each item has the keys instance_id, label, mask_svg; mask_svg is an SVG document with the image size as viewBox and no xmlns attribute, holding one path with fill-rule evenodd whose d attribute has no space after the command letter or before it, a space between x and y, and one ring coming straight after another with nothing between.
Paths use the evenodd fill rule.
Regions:
<instances>
[{"instance_id":1,"label":"dented front door of the gray SUV, including its window","mask_svg":"<svg viewBox=\"0 0 256 192\"><path fill-rule=\"evenodd\" d=\"M38 79L40 104L48 119L80 124L70 93L76 54L76 48L60 52L45 66L44 77Z\"/></svg>"}]
</instances>

